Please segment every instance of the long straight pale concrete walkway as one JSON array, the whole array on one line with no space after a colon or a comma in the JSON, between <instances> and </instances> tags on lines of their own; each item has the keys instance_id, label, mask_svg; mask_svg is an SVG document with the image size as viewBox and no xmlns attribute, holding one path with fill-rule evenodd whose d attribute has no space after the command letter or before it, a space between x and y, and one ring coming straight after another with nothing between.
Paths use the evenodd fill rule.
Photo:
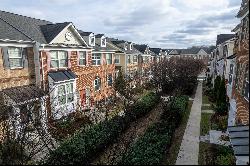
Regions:
<instances>
[{"instance_id":1,"label":"long straight pale concrete walkway","mask_svg":"<svg viewBox=\"0 0 250 166\"><path fill-rule=\"evenodd\" d=\"M176 165L198 165L202 105L202 82L199 82Z\"/></svg>"}]
</instances>

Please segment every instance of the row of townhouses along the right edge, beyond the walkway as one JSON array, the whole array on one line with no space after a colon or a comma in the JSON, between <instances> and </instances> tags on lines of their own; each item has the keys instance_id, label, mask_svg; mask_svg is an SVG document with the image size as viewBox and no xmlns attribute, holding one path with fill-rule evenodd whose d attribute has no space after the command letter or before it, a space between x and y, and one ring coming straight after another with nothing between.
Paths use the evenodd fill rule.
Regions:
<instances>
[{"instance_id":1,"label":"row of townhouses along the right edge, beyond the walkway","mask_svg":"<svg viewBox=\"0 0 250 166\"><path fill-rule=\"evenodd\" d=\"M249 0L242 0L233 34L217 35L209 74L224 77L229 101L228 132L236 163L249 164Z\"/></svg>"}]
</instances>

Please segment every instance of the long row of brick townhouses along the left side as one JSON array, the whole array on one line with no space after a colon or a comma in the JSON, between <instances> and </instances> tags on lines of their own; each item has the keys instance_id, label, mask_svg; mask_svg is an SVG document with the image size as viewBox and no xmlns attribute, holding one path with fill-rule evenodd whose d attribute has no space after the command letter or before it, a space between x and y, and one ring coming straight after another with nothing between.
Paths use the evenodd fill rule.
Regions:
<instances>
[{"instance_id":1,"label":"long row of brick townhouses along the left side","mask_svg":"<svg viewBox=\"0 0 250 166\"><path fill-rule=\"evenodd\" d=\"M0 11L0 110L11 112L15 126L29 118L46 124L77 110L93 111L114 96L119 71L133 81L138 74L147 78L155 60L182 55L210 56L203 49L150 48L85 32L71 22Z\"/></svg>"}]
</instances>

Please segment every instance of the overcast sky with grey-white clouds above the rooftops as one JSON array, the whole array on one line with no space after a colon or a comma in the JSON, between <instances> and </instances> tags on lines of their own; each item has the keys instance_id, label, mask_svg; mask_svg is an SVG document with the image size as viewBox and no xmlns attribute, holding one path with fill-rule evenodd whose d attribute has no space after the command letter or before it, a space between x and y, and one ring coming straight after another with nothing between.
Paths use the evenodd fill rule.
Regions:
<instances>
[{"instance_id":1,"label":"overcast sky with grey-white clouds above the rooftops","mask_svg":"<svg viewBox=\"0 0 250 166\"><path fill-rule=\"evenodd\" d=\"M0 0L0 10L73 22L76 28L104 33L150 47L185 48L215 44L231 33L241 0Z\"/></svg>"}]
</instances>

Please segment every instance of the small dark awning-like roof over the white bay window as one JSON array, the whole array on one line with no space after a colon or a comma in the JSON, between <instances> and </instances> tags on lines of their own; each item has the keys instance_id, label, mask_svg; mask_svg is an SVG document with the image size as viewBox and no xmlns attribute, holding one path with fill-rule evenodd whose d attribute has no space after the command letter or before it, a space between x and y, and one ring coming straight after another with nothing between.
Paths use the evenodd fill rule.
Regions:
<instances>
[{"instance_id":1,"label":"small dark awning-like roof over the white bay window","mask_svg":"<svg viewBox=\"0 0 250 166\"><path fill-rule=\"evenodd\" d=\"M49 72L49 76L55 81L66 81L76 79L76 75L70 70Z\"/></svg>"}]
</instances>

